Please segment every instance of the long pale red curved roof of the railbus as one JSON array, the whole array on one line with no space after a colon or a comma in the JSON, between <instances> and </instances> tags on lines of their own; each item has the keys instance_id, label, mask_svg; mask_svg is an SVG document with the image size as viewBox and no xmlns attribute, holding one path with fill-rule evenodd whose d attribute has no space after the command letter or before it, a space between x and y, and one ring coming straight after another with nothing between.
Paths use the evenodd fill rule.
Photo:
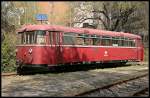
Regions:
<instances>
[{"instance_id":1,"label":"long pale red curved roof of the railbus","mask_svg":"<svg viewBox=\"0 0 150 98\"><path fill-rule=\"evenodd\" d=\"M129 38L141 39L140 36L135 35L135 34L131 34L131 33L106 31L106 30L98 30L98 29L89 29L89 28L73 28L73 27L64 27L64 26L58 26L58 25L26 25L26 26L23 26L21 29L19 29L18 32L35 31L35 30L88 33L88 34L96 34L96 35L120 36L120 37L129 37Z\"/></svg>"}]
</instances>

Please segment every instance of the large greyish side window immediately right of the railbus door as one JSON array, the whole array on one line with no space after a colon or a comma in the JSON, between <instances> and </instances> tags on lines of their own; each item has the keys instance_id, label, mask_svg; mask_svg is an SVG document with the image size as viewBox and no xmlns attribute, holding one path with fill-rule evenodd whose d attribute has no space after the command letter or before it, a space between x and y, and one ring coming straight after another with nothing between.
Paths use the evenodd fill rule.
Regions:
<instances>
[{"instance_id":1,"label":"large greyish side window immediately right of the railbus door","mask_svg":"<svg viewBox=\"0 0 150 98\"><path fill-rule=\"evenodd\" d=\"M63 44L64 45L74 45L75 44L75 36L73 36L73 33L64 33Z\"/></svg>"}]
</instances>

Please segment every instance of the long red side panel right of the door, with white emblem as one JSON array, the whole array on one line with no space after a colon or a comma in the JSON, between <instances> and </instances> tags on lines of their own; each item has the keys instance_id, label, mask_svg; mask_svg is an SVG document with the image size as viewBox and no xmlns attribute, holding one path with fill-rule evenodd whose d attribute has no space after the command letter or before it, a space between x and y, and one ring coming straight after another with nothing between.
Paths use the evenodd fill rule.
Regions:
<instances>
[{"instance_id":1,"label":"long red side panel right of the door, with white emblem","mask_svg":"<svg viewBox=\"0 0 150 98\"><path fill-rule=\"evenodd\" d=\"M137 59L136 48L105 48L82 47L63 48L64 61L108 61L108 60L134 60Z\"/></svg>"}]
</instances>

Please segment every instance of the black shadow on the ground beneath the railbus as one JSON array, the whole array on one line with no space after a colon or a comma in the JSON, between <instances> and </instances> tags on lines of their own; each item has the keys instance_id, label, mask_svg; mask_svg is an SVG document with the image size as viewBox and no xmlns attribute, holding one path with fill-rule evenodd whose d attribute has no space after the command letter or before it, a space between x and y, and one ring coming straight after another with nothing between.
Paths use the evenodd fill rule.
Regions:
<instances>
[{"instance_id":1,"label":"black shadow on the ground beneath the railbus","mask_svg":"<svg viewBox=\"0 0 150 98\"><path fill-rule=\"evenodd\" d=\"M91 69L104 69L104 68L116 68L116 67L125 67L131 66L131 64L74 64L74 65L62 65L51 68L34 68L34 69L25 69L20 73L21 75L34 75L34 74L47 74L47 73L65 73L65 72L75 72L75 71L87 71ZM41 70L42 69L42 70Z\"/></svg>"}]
</instances>

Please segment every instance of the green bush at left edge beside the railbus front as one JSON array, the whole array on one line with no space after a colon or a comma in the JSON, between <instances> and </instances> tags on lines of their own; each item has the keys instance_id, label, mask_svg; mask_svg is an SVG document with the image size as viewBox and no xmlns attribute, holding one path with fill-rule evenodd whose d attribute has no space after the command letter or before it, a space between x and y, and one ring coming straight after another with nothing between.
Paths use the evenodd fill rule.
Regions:
<instances>
[{"instance_id":1,"label":"green bush at left edge beside the railbus front","mask_svg":"<svg viewBox=\"0 0 150 98\"><path fill-rule=\"evenodd\" d=\"M12 72L16 70L15 65L15 36L5 34L5 39L2 42L2 72Z\"/></svg>"}]
</instances>

